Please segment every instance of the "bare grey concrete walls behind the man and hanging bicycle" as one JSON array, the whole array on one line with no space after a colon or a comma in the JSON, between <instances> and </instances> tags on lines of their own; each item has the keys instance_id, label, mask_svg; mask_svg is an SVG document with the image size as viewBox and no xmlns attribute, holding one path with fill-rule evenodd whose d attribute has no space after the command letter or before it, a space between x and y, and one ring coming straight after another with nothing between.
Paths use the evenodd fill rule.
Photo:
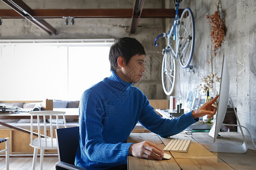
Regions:
<instances>
[{"instance_id":1,"label":"bare grey concrete walls behind the man and hanging bicycle","mask_svg":"<svg viewBox=\"0 0 256 170\"><path fill-rule=\"evenodd\" d=\"M31 8L133 8L133 0L108 1L34 1L23 0ZM177 65L177 81L172 95L179 95L185 101L187 92L195 90L201 78L217 73L220 76L222 55L225 52L228 59L230 74L230 97L237 107L241 124L249 128L253 138L256 138L255 107L255 74L256 57L254 37L255 32L255 0L221 1L221 16L225 21L225 41L212 59L212 42L210 41L210 25L206 15L217 10L217 1L192 0L181 2L180 8L189 7L193 11L196 27L196 45L191 65L194 72ZM151 0L144 2L144 8L172 8L172 0ZM9 8L0 2L0 8ZM139 27L134 34L129 33L131 19L75 19L75 25L65 25L64 19L46 19L55 29L56 36L49 36L25 19L3 19L0 26L0 39L86 39L86 38L116 38L123 36L135 37L144 45L147 52L147 71L143 80L135 84L148 99L168 99L162 90L160 71L162 63L162 48L154 47L154 39L166 31L172 23L171 19L140 19ZM108 64L108 63L106 63ZM204 95L203 93L201 95ZM246 133L247 134L247 133ZM247 134L248 135L248 134Z\"/></svg>"}]
</instances>

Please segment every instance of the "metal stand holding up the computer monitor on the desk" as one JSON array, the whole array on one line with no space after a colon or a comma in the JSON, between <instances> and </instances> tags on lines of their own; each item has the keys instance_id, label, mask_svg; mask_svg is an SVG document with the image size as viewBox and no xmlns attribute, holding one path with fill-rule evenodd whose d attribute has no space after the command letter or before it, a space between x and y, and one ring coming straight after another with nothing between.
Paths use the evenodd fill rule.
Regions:
<instances>
[{"instance_id":1,"label":"metal stand holding up the computer monitor on the desk","mask_svg":"<svg viewBox=\"0 0 256 170\"><path fill-rule=\"evenodd\" d=\"M233 105L233 109L234 109L234 113L236 114L236 117L237 117L238 125L233 125L233 124L222 124L222 125L239 126L239 128L241 130L242 137L243 137L243 144L242 145L224 145L224 144L221 144L221 143L218 143L218 144L213 143L213 144L210 144L209 151L211 151L211 152L225 152L225 153L243 154L247 151L247 144L246 144L246 140L245 140L245 135L243 134L243 130L242 130L242 127L245 128L245 126L241 126L240 121L239 121L238 116L237 116L236 109L234 108L233 101L230 97L229 97L229 99L230 99L230 101Z\"/></svg>"}]
</instances>

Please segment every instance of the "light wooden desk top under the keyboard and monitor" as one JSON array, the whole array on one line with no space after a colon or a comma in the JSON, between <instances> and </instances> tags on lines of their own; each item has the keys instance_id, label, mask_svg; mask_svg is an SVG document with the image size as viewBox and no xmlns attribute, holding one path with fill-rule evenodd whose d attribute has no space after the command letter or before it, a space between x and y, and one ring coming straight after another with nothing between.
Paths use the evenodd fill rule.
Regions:
<instances>
[{"instance_id":1,"label":"light wooden desk top under the keyboard and monitor","mask_svg":"<svg viewBox=\"0 0 256 170\"><path fill-rule=\"evenodd\" d=\"M242 144L242 136L237 132L222 132L216 142ZM148 160L127 157L129 169L256 169L256 150L250 138L246 138L249 150L245 154L228 154L210 152L209 144L212 143L208 133L195 133L191 135L177 134L171 138L161 138L154 133L131 133L127 142L150 141L161 148L167 145L170 139L191 139L191 146L187 153L166 152L172 156L170 160ZM254 140L255 141L255 140ZM256 141L255 141L256 142Z\"/></svg>"}]
</instances>

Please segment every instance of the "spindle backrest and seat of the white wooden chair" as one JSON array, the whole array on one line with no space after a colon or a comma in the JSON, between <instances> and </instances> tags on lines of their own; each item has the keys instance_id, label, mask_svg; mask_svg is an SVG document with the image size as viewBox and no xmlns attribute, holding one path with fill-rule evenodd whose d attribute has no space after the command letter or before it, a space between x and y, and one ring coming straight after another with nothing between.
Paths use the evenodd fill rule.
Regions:
<instances>
[{"instance_id":1,"label":"spindle backrest and seat of the white wooden chair","mask_svg":"<svg viewBox=\"0 0 256 170\"><path fill-rule=\"evenodd\" d=\"M67 128L65 120L65 112L59 111L35 111L30 112L31 114L31 145L38 145L39 147L56 147L56 139L53 138L53 129L59 128L59 116L62 116L64 127ZM34 116L36 116L36 126L38 131L38 144L32 143L34 133ZM41 122L40 120L43 121ZM56 121L55 121L56 119ZM49 121L49 122L47 122ZM56 125L53 123L56 122ZM47 129L48 128L48 129ZM49 132L47 133L47 130ZM42 132L43 131L43 132Z\"/></svg>"}]
</instances>

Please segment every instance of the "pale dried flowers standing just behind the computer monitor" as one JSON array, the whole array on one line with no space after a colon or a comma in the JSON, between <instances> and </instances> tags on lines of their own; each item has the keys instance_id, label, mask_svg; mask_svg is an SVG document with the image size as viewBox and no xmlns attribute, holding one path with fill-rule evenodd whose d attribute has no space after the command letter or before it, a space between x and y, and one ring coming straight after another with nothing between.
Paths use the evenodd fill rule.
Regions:
<instances>
[{"instance_id":1,"label":"pale dried flowers standing just behind the computer monitor","mask_svg":"<svg viewBox=\"0 0 256 170\"><path fill-rule=\"evenodd\" d=\"M217 74L210 74L202 78L199 91L203 90L203 92L207 92L207 89L209 89L212 92L212 94L216 94L214 83L217 83L217 82L220 83L220 79L221 79L221 78L218 78L218 76L216 75ZM215 82L214 82L214 78L215 78Z\"/></svg>"}]
</instances>

